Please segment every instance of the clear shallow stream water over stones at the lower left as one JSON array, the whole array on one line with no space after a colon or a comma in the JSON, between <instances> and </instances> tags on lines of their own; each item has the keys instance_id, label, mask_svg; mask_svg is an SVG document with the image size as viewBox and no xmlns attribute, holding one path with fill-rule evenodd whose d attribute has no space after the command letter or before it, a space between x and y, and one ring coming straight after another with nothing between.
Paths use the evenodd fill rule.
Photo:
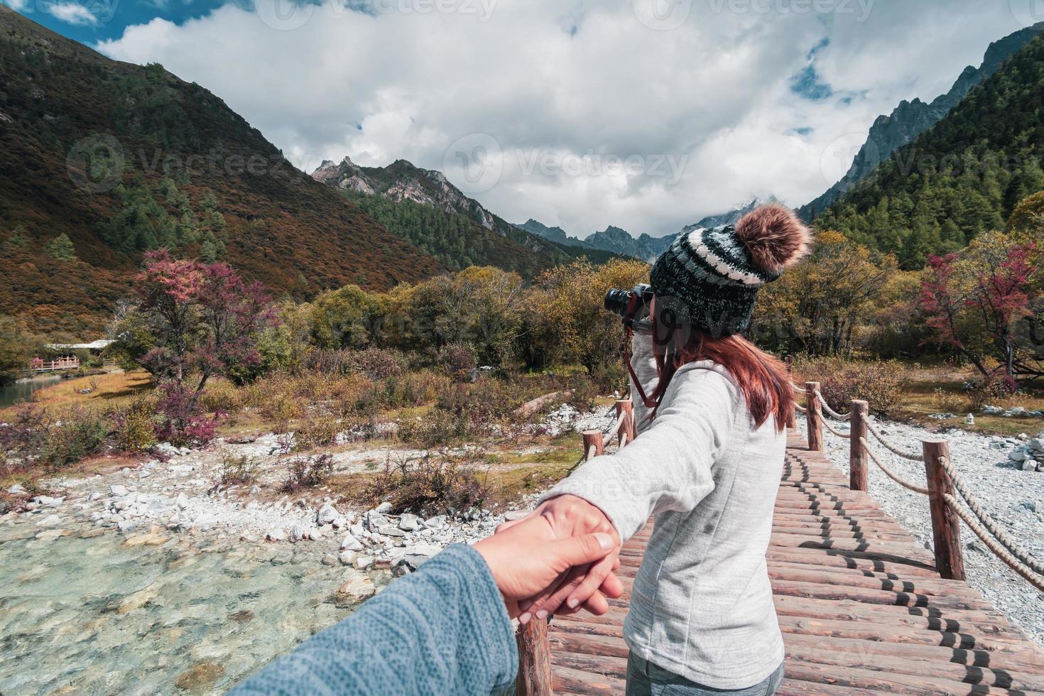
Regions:
<instances>
[{"instance_id":1,"label":"clear shallow stream water over stones at the lower left","mask_svg":"<svg viewBox=\"0 0 1044 696\"><path fill-rule=\"evenodd\" d=\"M331 596L358 571L305 544L127 548L32 522L0 524L0 694L222 693L352 609Z\"/></svg>"}]
</instances>

